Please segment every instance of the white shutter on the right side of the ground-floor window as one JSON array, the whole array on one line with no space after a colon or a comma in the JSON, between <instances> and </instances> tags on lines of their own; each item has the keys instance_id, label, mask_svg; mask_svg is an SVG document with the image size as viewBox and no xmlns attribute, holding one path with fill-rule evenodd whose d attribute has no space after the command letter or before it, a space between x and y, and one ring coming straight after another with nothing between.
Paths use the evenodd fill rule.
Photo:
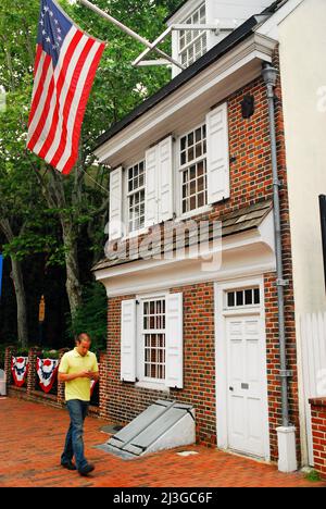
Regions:
<instances>
[{"instance_id":1,"label":"white shutter on the right side of the ground-floor window","mask_svg":"<svg viewBox=\"0 0 326 509\"><path fill-rule=\"evenodd\" d=\"M183 294L166 297L165 370L168 387L184 387Z\"/></svg>"}]
</instances>

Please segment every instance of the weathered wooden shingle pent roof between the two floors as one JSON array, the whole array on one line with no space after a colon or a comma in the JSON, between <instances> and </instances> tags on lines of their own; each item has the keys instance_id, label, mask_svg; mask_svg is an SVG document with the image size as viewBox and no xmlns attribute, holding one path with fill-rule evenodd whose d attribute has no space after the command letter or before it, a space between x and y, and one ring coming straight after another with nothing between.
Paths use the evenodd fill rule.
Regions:
<instances>
[{"instance_id":1,"label":"weathered wooden shingle pent roof between the two floors","mask_svg":"<svg viewBox=\"0 0 326 509\"><path fill-rule=\"evenodd\" d=\"M215 218L215 221L221 221L222 222L222 237L227 237L229 235L235 235L238 233L242 232L248 232L249 229L256 228L260 226L262 221L266 218L268 212L272 210L273 201L272 200L264 200L264 201L259 201L254 204L248 206L248 207L242 207L241 209L235 210L233 212L228 212L223 216ZM167 223L164 223L165 227ZM149 236L150 240L152 240L151 247L147 246L145 247L146 249L146 259L152 258L158 254L163 254L164 252L174 252L176 251L177 248L177 239L176 239L176 234L177 234L177 228L178 226L183 228L183 222L174 223L173 221L168 222L168 226L174 231L173 235L173 240L168 246L165 246L164 243L161 239L161 231L160 234L154 238L151 233L148 235L142 235L139 237L139 239L142 241L147 236ZM209 238L206 240L214 240L216 238L214 236L214 228L213 228L213 220L210 221L210 228L209 228ZM217 232L218 233L218 232ZM163 235L162 235L163 236ZM184 239L184 237L183 237ZM155 245L155 240L158 240L158 244ZM189 235L188 238L184 239L185 241L185 247L193 246L198 243L198 234ZM100 262L98 262L93 268L92 271L100 271L102 269L109 269L112 266L117 266L117 265L123 265L125 263L133 263L133 261L138 261L143 259L141 257L141 246L139 247L140 252L134 252L133 258L129 256L129 246L128 246L128 240L120 240L116 243L117 244L117 251L112 252L112 256L110 258L104 258ZM125 258L123 258L123 254L125 254ZM137 256L135 256L137 254Z\"/></svg>"}]
</instances>

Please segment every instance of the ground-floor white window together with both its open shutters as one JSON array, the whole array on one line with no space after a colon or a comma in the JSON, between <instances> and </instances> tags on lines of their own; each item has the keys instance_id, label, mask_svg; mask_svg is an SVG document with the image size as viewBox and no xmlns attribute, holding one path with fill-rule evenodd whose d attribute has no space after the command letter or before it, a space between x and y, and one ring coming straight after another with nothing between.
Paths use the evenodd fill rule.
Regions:
<instances>
[{"instance_id":1,"label":"ground-floor white window together with both its open shutters","mask_svg":"<svg viewBox=\"0 0 326 509\"><path fill-rule=\"evenodd\" d=\"M184 386L183 294L160 291L121 303L121 380L168 390Z\"/></svg>"}]
</instances>

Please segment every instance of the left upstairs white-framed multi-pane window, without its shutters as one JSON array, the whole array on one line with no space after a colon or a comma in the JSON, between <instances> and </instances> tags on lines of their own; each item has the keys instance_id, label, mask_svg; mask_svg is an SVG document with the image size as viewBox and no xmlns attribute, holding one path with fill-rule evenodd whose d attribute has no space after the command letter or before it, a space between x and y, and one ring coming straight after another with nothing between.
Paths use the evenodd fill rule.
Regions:
<instances>
[{"instance_id":1,"label":"left upstairs white-framed multi-pane window, without its shutters","mask_svg":"<svg viewBox=\"0 0 326 509\"><path fill-rule=\"evenodd\" d=\"M145 161L133 164L126 172L128 231L135 232L145 226Z\"/></svg>"}]
</instances>

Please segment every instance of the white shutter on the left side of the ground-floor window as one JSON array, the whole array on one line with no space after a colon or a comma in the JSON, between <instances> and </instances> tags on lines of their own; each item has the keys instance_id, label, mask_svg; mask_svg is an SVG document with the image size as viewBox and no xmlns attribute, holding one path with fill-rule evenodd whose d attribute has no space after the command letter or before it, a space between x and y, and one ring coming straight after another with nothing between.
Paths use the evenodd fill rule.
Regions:
<instances>
[{"instance_id":1,"label":"white shutter on the left side of the ground-floor window","mask_svg":"<svg viewBox=\"0 0 326 509\"><path fill-rule=\"evenodd\" d=\"M121 380L136 381L136 300L121 303Z\"/></svg>"}]
</instances>

